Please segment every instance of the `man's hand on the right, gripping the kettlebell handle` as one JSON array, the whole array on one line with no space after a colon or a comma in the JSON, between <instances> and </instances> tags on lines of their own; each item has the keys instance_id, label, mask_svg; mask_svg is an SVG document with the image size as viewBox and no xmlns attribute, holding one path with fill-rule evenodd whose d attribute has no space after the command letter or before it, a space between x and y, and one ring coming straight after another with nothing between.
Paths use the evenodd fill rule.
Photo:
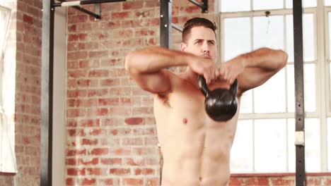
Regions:
<instances>
[{"instance_id":1,"label":"man's hand on the right, gripping the kettlebell handle","mask_svg":"<svg viewBox=\"0 0 331 186\"><path fill-rule=\"evenodd\" d=\"M243 58L233 58L230 61L221 64L221 67L219 68L219 77L232 85L238 75L243 73L244 68Z\"/></svg>"}]
</instances>

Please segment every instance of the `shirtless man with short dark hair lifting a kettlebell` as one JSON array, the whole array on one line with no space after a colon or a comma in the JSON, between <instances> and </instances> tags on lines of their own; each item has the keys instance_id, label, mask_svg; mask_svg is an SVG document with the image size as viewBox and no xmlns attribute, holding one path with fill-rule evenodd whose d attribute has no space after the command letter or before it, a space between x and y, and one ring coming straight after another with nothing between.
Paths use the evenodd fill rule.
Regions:
<instances>
[{"instance_id":1,"label":"shirtless man with short dark hair lifting a kettlebell","mask_svg":"<svg viewBox=\"0 0 331 186\"><path fill-rule=\"evenodd\" d=\"M231 120L216 122L204 110L198 75L209 89L229 88L238 79L240 97L262 85L286 65L281 50L257 49L216 67L216 26L205 18L187 20L181 51L151 46L127 55L125 68L137 85L153 94L158 140L163 154L163 186L223 186L230 177L230 150L238 111ZM174 66L187 66L175 74Z\"/></svg>"}]
</instances>

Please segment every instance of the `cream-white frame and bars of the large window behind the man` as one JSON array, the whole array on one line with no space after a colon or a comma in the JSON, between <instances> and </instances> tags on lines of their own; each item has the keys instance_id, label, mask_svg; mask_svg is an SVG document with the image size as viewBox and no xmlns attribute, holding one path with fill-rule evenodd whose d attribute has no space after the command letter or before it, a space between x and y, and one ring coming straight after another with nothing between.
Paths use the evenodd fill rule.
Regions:
<instances>
[{"instance_id":1,"label":"cream-white frame and bars of the large window behind the man","mask_svg":"<svg viewBox=\"0 0 331 186\"><path fill-rule=\"evenodd\" d=\"M284 7L286 1L284 0ZM219 0L221 5L221 0ZM252 0L250 3L252 7ZM219 54L221 61L224 59L224 19L225 18L251 18L254 16L265 16L265 11L270 11L270 16L284 16L284 50L286 51L286 15L292 14L291 8L275 9L275 10L261 10L261 11L240 11L240 12L222 12L219 8ZM306 118L318 118L320 120L320 172L329 172L331 168L327 167L327 117L331 118L331 106L330 106L330 72L329 64L331 63L328 46L328 25L327 25L327 11L331 12L331 6L324 6L324 0L317 0L317 7L303 8L303 13L312 13L314 20L314 32L315 32L315 61L308 63L315 63L315 112L306 112ZM250 21L250 29L253 27L252 20ZM253 32L251 30L251 38L253 38ZM252 43L252 42L251 42ZM251 46L253 49L253 46ZM326 53L325 53L326 52ZM293 63L293 61L291 61ZM307 63L307 62L306 62ZM305 63L305 64L306 64ZM324 77L324 78L322 78ZM286 77L287 78L287 77ZM286 86L286 85L285 85ZM285 87L287 92L287 86ZM252 97L254 99L254 97ZM287 101L287 100L286 100ZM286 103L287 104L287 103ZM295 113L240 113L239 120L245 119L277 119L277 118L295 118ZM287 131L294 132L294 131ZM253 152L254 153L254 152ZM253 154L254 156L254 154ZM289 159L287 158L287 161ZM331 159L329 160L331 161ZM257 172L252 172L257 173Z\"/></svg>"}]
</instances>

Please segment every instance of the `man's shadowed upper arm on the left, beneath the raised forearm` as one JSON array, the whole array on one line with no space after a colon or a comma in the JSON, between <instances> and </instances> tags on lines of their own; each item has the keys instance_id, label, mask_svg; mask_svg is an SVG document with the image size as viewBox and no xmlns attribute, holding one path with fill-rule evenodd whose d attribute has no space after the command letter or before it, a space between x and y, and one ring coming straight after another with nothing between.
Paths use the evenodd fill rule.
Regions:
<instances>
[{"instance_id":1,"label":"man's shadowed upper arm on the left, beneath the raised forearm","mask_svg":"<svg viewBox=\"0 0 331 186\"><path fill-rule=\"evenodd\" d=\"M171 90L170 72L160 70L158 73L132 74L137 85L153 94L166 93Z\"/></svg>"}]
</instances>

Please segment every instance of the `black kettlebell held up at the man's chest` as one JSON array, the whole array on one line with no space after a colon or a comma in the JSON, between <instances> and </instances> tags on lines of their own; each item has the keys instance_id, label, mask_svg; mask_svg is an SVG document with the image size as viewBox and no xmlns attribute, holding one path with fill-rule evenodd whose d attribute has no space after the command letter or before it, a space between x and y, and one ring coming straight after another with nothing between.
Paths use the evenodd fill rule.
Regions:
<instances>
[{"instance_id":1,"label":"black kettlebell held up at the man's chest","mask_svg":"<svg viewBox=\"0 0 331 186\"><path fill-rule=\"evenodd\" d=\"M214 89L210 91L203 75L198 76L199 88L206 97L204 109L208 116L216 121L227 121L233 118L238 109L238 80L236 79L230 89Z\"/></svg>"}]
</instances>

